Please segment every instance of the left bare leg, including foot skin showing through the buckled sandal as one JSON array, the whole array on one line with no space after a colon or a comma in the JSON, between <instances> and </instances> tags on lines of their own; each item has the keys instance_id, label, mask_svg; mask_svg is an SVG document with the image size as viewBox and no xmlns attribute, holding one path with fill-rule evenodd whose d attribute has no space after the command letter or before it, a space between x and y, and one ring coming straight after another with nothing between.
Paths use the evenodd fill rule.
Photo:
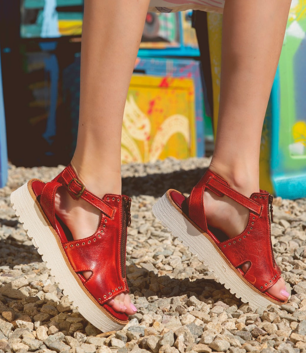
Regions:
<instances>
[{"instance_id":1,"label":"left bare leg, including foot skin showing through the buckled sandal","mask_svg":"<svg viewBox=\"0 0 306 353\"><path fill-rule=\"evenodd\" d=\"M81 53L80 117L72 166L99 197L121 194L121 128L124 106L149 0L85 0ZM75 240L97 229L100 211L60 190L56 210ZM89 277L91 273L83 273ZM114 310L131 315L127 294Z\"/></svg>"}]
</instances>

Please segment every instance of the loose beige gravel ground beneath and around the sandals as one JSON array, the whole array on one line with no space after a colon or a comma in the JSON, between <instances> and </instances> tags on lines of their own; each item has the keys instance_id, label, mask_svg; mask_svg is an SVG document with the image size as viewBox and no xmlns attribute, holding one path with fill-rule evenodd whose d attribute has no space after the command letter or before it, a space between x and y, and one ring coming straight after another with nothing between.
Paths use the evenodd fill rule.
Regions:
<instances>
[{"instance_id":1,"label":"loose beige gravel ground beneath and around the sandals","mask_svg":"<svg viewBox=\"0 0 306 353\"><path fill-rule=\"evenodd\" d=\"M274 200L272 244L292 296L256 312L154 218L157 199L169 188L190 192L208 164L190 158L123 166L123 193L133 199L127 277L138 312L107 334L63 296L10 206L17 187L31 178L49 181L63 167L11 166L0 189L0 353L306 352L306 199Z\"/></svg>"}]
</instances>

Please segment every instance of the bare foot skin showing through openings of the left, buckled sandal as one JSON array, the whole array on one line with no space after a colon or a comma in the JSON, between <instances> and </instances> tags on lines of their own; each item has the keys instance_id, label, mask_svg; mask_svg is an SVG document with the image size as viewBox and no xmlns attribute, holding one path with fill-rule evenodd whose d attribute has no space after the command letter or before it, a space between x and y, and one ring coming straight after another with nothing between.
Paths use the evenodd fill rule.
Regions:
<instances>
[{"instance_id":1,"label":"bare foot skin showing through openings of the left, buckled sandal","mask_svg":"<svg viewBox=\"0 0 306 353\"><path fill-rule=\"evenodd\" d=\"M64 187L60 187L55 195L55 213L69 228L74 240L90 237L97 230L101 212L88 202L73 199ZM91 271L84 271L83 276L89 279ZM137 312L128 294L121 293L107 302L117 312L133 315Z\"/></svg>"}]
</instances>

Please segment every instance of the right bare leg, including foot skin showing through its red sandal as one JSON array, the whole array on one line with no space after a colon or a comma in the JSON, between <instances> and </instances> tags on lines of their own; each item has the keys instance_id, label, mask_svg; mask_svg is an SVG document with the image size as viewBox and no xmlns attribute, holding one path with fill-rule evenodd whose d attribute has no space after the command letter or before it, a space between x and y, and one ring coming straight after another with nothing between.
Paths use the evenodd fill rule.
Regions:
<instances>
[{"instance_id":1,"label":"right bare leg, including foot skin showing through its red sandal","mask_svg":"<svg viewBox=\"0 0 306 353\"><path fill-rule=\"evenodd\" d=\"M259 191L260 138L290 2L227 0L224 8L220 111L210 169L247 197ZM230 238L245 229L244 207L211 192L205 203L210 225ZM284 300L284 290L280 279L268 292Z\"/></svg>"}]
</instances>

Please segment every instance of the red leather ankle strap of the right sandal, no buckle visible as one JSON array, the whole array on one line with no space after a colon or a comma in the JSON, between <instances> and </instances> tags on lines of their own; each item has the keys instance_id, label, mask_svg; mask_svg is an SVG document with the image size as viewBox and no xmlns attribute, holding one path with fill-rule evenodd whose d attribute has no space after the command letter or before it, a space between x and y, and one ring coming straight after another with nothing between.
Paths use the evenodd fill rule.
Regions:
<instances>
[{"instance_id":1,"label":"red leather ankle strap of the right sandal, no buckle visible","mask_svg":"<svg viewBox=\"0 0 306 353\"><path fill-rule=\"evenodd\" d=\"M212 172L210 172L213 174ZM208 181L206 182L206 186L208 189L210 189L212 192L216 193L217 195L221 194L228 196L229 198L233 199L234 201L238 202L240 205L248 208L250 211L252 211L254 214L258 215L262 211L262 206L259 205L257 202L251 200L250 198L242 195L240 192L232 189L224 180L224 183L218 179L214 178L212 175L209 177ZM223 180L223 179L221 179ZM217 192L216 192L217 191Z\"/></svg>"}]
</instances>

